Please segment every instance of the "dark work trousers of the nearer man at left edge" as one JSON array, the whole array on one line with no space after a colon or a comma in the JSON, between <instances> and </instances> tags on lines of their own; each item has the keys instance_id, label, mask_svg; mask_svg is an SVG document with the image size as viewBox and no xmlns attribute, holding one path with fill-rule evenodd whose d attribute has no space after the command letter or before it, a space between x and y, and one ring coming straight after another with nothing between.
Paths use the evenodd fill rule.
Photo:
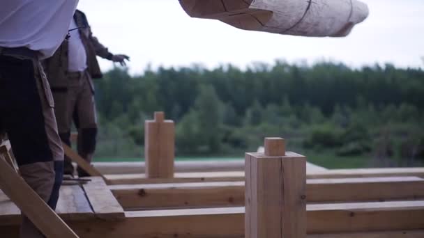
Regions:
<instances>
[{"instance_id":1,"label":"dark work trousers of the nearer man at left edge","mask_svg":"<svg viewBox=\"0 0 424 238\"><path fill-rule=\"evenodd\" d=\"M63 149L52 93L38 60L0 52L0 127L8 134L24 180L55 209ZM20 237L44 236L24 216Z\"/></svg>"}]
</instances>

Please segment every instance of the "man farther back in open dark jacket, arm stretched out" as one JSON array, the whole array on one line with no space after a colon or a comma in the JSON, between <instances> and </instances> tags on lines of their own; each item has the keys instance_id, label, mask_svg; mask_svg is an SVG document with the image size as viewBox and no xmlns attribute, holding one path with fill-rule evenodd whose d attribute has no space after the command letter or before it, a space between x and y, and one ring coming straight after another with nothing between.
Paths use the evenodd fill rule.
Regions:
<instances>
[{"instance_id":1,"label":"man farther back in open dark jacket, arm stretched out","mask_svg":"<svg viewBox=\"0 0 424 238\"><path fill-rule=\"evenodd\" d=\"M93 36L86 15L75 11L69 35L56 53L44 61L50 81L59 136L70 145L72 121L78 129L78 154L91 162L96 149L97 118L92 79L102 77L96 56L125 65L129 59L123 54L112 54ZM79 177L89 176L77 168ZM73 175L70 159L65 158L65 174Z\"/></svg>"}]
</instances>

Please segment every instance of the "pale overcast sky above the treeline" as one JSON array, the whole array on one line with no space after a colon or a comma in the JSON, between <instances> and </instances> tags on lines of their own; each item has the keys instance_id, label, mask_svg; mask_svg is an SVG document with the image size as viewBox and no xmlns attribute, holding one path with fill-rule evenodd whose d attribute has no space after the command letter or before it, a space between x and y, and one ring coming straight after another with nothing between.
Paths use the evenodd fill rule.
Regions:
<instances>
[{"instance_id":1,"label":"pale overcast sky above the treeline","mask_svg":"<svg viewBox=\"0 0 424 238\"><path fill-rule=\"evenodd\" d=\"M281 0L283 1L283 0ZM114 54L128 54L130 72L147 65L213 68L232 63L338 61L360 67L393 63L424 67L424 0L364 0L370 16L346 38L304 38L242 31L185 14L178 0L79 0L94 35ZM101 67L112 67L101 60Z\"/></svg>"}]
</instances>

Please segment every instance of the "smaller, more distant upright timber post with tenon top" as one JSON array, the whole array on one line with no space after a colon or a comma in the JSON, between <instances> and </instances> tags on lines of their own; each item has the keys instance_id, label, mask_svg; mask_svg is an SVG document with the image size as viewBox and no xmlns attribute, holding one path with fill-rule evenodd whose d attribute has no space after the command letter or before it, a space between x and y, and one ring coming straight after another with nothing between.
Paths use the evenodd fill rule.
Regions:
<instances>
[{"instance_id":1,"label":"smaller, more distant upright timber post with tenon top","mask_svg":"<svg viewBox=\"0 0 424 238\"><path fill-rule=\"evenodd\" d=\"M163 112L155 112L154 120L144 124L144 157L149 178L174 177L174 122L165 120Z\"/></svg>"}]
</instances>

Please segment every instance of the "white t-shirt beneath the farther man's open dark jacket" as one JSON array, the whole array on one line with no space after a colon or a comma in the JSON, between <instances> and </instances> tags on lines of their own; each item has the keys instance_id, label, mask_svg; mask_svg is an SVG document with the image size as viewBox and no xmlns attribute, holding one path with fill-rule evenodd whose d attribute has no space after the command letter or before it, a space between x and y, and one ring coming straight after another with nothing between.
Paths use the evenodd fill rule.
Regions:
<instances>
[{"instance_id":1,"label":"white t-shirt beneath the farther man's open dark jacket","mask_svg":"<svg viewBox=\"0 0 424 238\"><path fill-rule=\"evenodd\" d=\"M69 29L77 28L75 20L70 21ZM87 54L82 44L78 29L70 31L68 39L68 71L82 72L87 68Z\"/></svg>"}]
</instances>

